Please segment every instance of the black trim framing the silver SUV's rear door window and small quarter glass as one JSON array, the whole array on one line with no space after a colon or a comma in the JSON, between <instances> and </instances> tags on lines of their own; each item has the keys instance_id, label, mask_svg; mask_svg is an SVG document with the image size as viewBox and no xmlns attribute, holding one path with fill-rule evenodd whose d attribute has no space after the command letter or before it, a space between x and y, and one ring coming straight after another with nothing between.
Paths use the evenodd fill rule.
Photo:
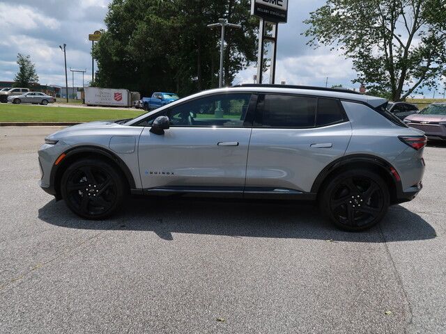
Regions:
<instances>
[{"instance_id":1,"label":"black trim framing the silver SUV's rear door window and small quarter glass","mask_svg":"<svg viewBox=\"0 0 446 334\"><path fill-rule=\"evenodd\" d=\"M263 101L265 100L265 95L288 95L293 97L312 97L316 100L316 110L314 111L314 125L309 127L267 127L263 125L263 111L264 111L264 104ZM318 117L318 106L319 106L319 99L325 99L325 100L335 100L337 101L337 104L339 106L339 109L341 111L341 114L343 116L342 120L339 120L337 122L331 122L324 125L316 125L317 117ZM325 96L318 96L318 95L306 95L306 94L293 94L293 93L259 93L257 108L255 111L254 116L254 122L252 127L254 129L318 129L321 127L328 127L330 125L337 125L341 123L349 122L347 113L344 109L344 106L341 103L341 99L336 97L325 97Z\"/></svg>"}]
</instances>

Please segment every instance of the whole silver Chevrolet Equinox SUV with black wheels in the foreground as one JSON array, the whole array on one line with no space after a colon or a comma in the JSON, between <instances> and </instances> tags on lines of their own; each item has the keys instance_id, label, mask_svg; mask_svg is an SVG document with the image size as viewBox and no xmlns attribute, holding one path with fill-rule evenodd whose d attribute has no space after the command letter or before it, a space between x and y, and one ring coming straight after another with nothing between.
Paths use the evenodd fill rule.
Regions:
<instances>
[{"instance_id":1,"label":"whole silver Chevrolet Equinox SUV with black wheels in the foreground","mask_svg":"<svg viewBox=\"0 0 446 334\"><path fill-rule=\"evenodd\" d=\"M306 86L207 90L48 136L40 186L89 219L128 194L204 195L315 200L339 228L364 230L422 189L426 137L386 105Z\"/></svg>"}]
</instances>

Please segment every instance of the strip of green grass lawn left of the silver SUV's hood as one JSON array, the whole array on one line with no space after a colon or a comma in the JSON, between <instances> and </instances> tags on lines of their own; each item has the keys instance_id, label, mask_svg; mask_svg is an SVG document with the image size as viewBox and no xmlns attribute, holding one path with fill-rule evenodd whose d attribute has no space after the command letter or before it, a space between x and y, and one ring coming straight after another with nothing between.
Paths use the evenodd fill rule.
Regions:
<instances>
[{"instance_id":1,"label":"strip of green grass lawn left of the silver SUV's hood","mask_svg":"<svg viewBox=\"0 0 446 334\"><path fill-rule=\"evenodd\" d=\"M144 111L0 104L0 122L90 122L134 118Z\"/></svg>"}]
</instances>

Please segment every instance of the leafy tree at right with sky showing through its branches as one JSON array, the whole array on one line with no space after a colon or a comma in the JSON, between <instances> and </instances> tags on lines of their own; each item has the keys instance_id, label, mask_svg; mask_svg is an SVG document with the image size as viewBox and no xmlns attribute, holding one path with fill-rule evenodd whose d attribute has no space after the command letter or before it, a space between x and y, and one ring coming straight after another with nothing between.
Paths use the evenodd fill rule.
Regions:
<instances>
[{"instance_id":1,"label":"leafy tree at right with sky showing through its branches","mask_svg":"<svg viewBox=\"0 0 446 334\"><path fill-rule=\"evenodd\" d=\"M305 23L309 45L351 58L369 93L403 100L446 70L445 0L328 0Z\"/></svg>"}]
</instances>

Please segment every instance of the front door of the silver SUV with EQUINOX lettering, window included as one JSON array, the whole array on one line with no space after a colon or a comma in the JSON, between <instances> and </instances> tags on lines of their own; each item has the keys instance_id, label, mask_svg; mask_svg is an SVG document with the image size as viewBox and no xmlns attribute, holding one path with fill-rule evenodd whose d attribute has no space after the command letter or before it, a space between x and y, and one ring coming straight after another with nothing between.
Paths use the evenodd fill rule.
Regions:
<instances>
[{"instance_id":1,"label":"front door of the silver SUV with EQUINOX lettering, window included","mask_svg":"<svg viewBox=\"0 0 446 334\"><path fill-rule=\"evenodd\" d=\"M139 139L144 189L195 189L243 194L252 125L245 122L251 94L207 95L155 113ZM157 116L170 129L150 132Z\"/></svg>"}]
</instances>

